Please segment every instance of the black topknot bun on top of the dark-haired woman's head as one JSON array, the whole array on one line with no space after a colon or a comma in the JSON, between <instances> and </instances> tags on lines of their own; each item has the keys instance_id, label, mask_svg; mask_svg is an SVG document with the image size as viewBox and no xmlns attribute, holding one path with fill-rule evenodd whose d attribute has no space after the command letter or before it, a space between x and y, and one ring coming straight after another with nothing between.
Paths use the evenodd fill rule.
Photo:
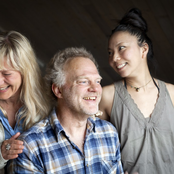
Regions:
<instances>
[{"instance_id":1,"label":"black topknot bun on top of the dark-haired woman's head","mask_svg":"<svg viewBox=\"0 0 174 174\"><path fill-rule=\"evenodd\" d=\"M147 23L142 17L141 11L137 8L132 8L125 16L120 20L120 25L131 25L140 29L142 32L147 32Z\"/></svg>"}]
</instances>

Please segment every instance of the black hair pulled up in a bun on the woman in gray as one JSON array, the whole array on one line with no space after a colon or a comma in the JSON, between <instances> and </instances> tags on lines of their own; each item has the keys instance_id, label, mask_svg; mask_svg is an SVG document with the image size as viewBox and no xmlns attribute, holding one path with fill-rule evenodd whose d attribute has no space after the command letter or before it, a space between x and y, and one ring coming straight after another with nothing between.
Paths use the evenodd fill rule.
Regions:
<instances>
[{"instance_id":1,"label":"black hair pulled up in a bun on the woman in gray","mask_svg":"<svg viewBox=\"0 0 174 174\"><path fill-rule=\"evenodd\" d=\"M119 21L119 25L112 30L111 36L118 31L129 32L131 35L136 36L140 47L144 43L148 44L147 61L148 65L150 65L154 56L153 45L151 39L146 34L148 31L146 20L142 17L141 11L138 8L132 8L123 16Z\"/></svg>"}]
</instances>

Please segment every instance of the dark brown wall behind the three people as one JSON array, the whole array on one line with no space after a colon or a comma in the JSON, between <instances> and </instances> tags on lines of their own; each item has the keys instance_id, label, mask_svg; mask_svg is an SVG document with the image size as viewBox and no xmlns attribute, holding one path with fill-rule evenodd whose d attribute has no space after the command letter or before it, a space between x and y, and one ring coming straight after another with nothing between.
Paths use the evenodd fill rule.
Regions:
<instances>
[{"instance_id":1,"label":"dark brown wall behind the three people","mask_svg":"<svg viewBox=\"0 0 174 174\"><path fill-rule=\"evenodd\" d=\"M100 65L102 85L107 85L119 79L108 64L107 39L132 7L141 9L149 25L157 77L174 84L173 0L1 0L0 29L16 30L31 41L43 74L58 50L86 47Z\"/></svg>"}]
</instances>

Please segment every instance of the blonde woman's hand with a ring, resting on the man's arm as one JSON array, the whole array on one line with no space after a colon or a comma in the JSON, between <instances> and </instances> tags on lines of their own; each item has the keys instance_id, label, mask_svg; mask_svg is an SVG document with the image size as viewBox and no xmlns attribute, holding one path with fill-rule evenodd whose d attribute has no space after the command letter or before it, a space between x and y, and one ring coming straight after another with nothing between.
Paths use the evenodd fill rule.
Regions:
<instances>
[{"instance_id":1,"label":"blonde woman's hand with a ring, resting on the man's arm","mask_svg":"<svg viewBox=\"0 0 174 174\"><path fill-rule=\"evenodd\" d=\"M3 141L1 145L1 153L5 160L14 159L18 157L18 154L23 151L23 142L16 140L20 135L20 132L13 135L10 139Z\"/></svg>"}]
</instances>

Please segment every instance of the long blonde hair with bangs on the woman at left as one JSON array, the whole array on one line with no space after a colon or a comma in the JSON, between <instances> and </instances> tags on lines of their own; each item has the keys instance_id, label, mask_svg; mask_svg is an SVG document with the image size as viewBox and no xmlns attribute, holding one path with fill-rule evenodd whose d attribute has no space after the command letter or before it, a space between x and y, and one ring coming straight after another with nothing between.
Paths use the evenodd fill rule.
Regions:
<instances>
[{"instance_id":1,"label":"long blonde hair with bangs on the woman at left","mask_svg":"<svg viewBox=\"0 0 174 174\"><path fill-rule=\"evenodd\" d=\"M0 69L4 69L4 62L22 76L20 120L24 118L23 128L26 130L36 120L46 117L50 107L35 53L25 36L16 31L0 33Z\"/></svg>"}]
</instances>

